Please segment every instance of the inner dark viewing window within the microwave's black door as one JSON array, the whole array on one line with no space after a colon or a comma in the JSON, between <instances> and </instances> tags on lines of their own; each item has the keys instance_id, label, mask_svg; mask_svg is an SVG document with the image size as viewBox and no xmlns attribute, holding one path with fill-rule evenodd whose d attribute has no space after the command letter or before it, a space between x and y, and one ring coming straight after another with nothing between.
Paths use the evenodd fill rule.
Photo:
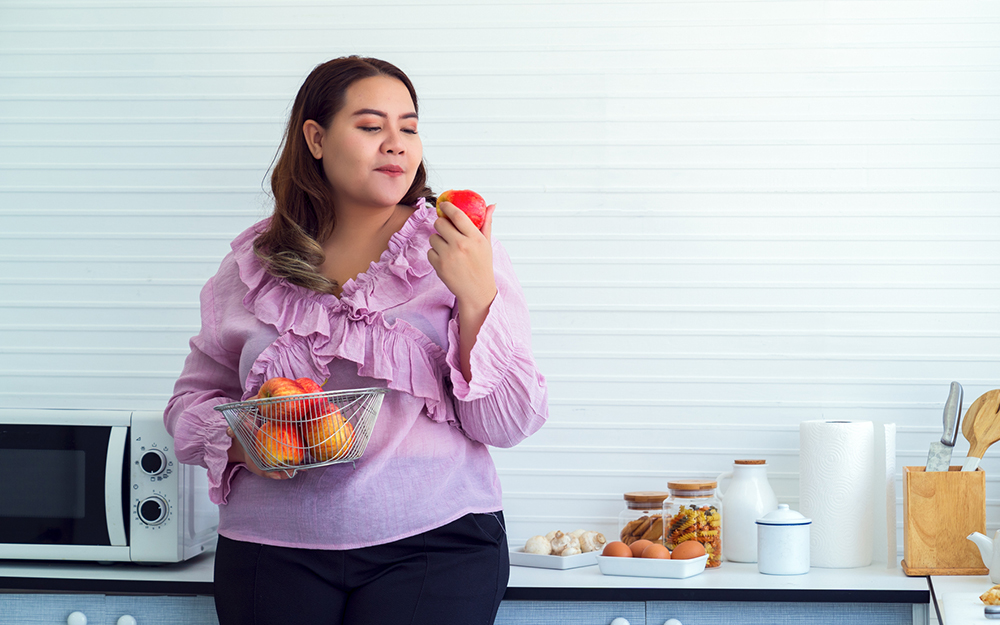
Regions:
<instances>
[{"instance_id":1,"label":"inner dark viewing window within the microwave's black door","mask_svg":"<svg viewBox=\"0 0 1000 625\"><path fill-rule=\"evenodd\" d=\"M82 519L86 454L79 449L0 449L0 517Z\"/></svg>"}]
</instances>

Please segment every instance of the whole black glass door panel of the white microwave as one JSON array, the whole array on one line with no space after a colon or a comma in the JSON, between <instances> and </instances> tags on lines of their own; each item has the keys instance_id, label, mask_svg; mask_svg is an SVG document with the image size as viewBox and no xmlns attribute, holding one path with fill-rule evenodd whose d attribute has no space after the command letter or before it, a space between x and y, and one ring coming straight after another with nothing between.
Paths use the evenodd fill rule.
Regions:
<instances>
[{"instance_id":1,"label":"whole black glass door panel of the white microwave","mask_svg":"<svg viewBox=\"0 0 1000 625\"><path fill-rule=\"evenodd\" d=\"M0 424L0 465L12 467L0 475L24 489L10 500L0 495L0 543L111 544L104 506L110 436L107 426ZM58 467L43 466L60 457Z\"/></svg>"}]
</instances>

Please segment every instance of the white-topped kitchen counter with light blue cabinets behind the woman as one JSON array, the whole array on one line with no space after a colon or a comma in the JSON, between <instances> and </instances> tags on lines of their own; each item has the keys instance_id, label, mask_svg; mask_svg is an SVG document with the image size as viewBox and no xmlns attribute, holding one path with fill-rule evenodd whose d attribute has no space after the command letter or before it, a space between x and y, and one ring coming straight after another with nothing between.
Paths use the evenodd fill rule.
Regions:
<instances>
[{"instance_id":1,"label":"white-topped kitchen counter with light blue cabinets behind the woman","mask_svg":"<svg viewBox=\"0 0 1000 625\"><path fill-rule=\"evenodd\" d=\"M0 623L64 625L70 613L88 625L218 625L211 594L212 554L165 566L126 563L0 562ZM8 594L4 594L8 593ZM812 569L806 575L760 575L756 565L725 563L687 579L602 575L511 567L498 625L733 623L928 623L926 578L885 564ZM624 625L619 621L615 625Z\"/></svg>"}]
</instances>

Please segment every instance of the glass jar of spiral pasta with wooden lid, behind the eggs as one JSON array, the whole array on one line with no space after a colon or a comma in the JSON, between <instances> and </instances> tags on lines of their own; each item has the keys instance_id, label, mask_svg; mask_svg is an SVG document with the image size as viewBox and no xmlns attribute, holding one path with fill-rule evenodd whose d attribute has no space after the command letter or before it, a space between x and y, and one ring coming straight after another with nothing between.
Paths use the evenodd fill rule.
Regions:
<instances>
[{"instance_id":1,"label":"glass jar of spiral pasta with wooden lid, behind the eggs","mask_svg":"<svg viewBox=\"0 0 1000 625\"><path fill-rule=\"evenodd\" d=\"M663 544L671 551L696 540L708 553L706 567L722 564L722 515L715 480L674 480L663 500Z\"/></svg>"}]
</instances>

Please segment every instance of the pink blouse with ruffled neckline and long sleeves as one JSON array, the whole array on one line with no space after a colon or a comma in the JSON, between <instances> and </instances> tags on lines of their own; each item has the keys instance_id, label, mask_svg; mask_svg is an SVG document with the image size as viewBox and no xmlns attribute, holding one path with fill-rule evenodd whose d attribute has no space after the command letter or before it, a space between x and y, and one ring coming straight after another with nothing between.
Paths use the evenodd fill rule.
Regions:
<instances>
[{"instance_id":1,"label":"pink blouse with ruffled neckline and long sleeves","mask_svg":"<svg viewBox=\"0 0 1000 625\"><path fill-rule=\"evenodd\" d=\"M427 260L436 213L421 199L368 271L339 298L268 274L253 252L261 222L201 293L201 332L164 412L181 462L208 469L219 533L317 549L383 544L469 512L502 508L487 446L511 447L548 416L530 347L524 294L493 241L499 293L459 367L455 297ZM355 463L258 477L228 464L226 422L214 410L248 399L272 377L327 380L325 390L388 387Z\"/></svg>"}]
</instances>

